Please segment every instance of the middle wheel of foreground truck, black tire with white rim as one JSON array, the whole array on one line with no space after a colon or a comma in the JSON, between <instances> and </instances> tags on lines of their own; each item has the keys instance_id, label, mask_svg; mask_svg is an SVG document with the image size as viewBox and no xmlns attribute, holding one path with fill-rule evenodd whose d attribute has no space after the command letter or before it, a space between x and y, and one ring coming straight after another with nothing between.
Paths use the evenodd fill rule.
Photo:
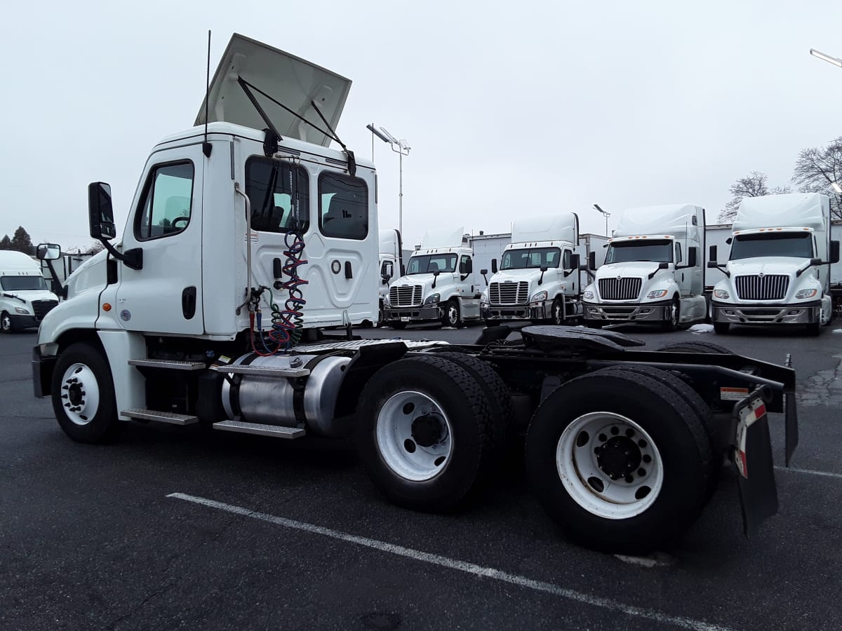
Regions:
<instances>
[{"instance_id":1,"label":"middle wheel of foreground truck, black tire with white rim","mask_svg":"<svg viewBox=\"0 0 842 631\"><path fill-rule=\"evenodd\" d=\"M445 358L413 357L374 374L360 395L357 447L392 503L456 506L493 456L491 409L472 374Z\"/></svg>"}]
</instances>

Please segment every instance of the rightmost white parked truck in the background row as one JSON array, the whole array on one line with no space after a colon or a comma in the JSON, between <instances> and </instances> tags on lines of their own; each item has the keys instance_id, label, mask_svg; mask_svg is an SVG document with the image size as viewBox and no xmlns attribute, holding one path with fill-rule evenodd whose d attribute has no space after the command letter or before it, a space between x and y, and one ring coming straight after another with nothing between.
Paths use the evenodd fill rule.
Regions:
<instances>
[{"instance_id":1,"label":"rightmost white parked truck in the background row","mask_svg":"<svg viewBox=\"0 0 842 631\"><path fill-rule=\"evenodd\" d=\"M812 335L833 316L831 239L826 195L793 193L743 199L732 225L727 262L711 247L708 267L721 269L711 320L717 333L731 325L804 325Z\"/></svg>"}]
</instances>

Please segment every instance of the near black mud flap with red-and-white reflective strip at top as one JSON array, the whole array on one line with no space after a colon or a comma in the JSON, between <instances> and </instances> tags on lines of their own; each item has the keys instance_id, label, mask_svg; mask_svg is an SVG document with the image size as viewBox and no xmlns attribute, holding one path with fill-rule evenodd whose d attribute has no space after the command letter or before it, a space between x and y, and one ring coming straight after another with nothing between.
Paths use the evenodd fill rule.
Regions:
<instances>
[{"instance_id":1,"label":"near black mud flap with red-and-white reflective strip at top","mask_svg":"<svg viewBox=\"0 0 842 631\"><path fill-rule=\"evenodd\" d=\"M743 533L750 537L766 518L778 512L772 442L766 416L765 388L754 390L733 410L733 460L738 471ZM789 415L787 415L789 416Z\"/></svg>"}]
</instances>

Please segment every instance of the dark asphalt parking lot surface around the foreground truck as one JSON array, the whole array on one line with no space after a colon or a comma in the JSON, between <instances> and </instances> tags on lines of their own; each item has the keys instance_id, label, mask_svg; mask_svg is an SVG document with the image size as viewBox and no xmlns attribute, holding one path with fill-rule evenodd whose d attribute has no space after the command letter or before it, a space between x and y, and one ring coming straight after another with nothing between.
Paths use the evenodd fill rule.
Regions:
<instances>
[{"instance_id":1,"label":"dark asphalt parking lot surface around the foreground truck","mask_svg":"<svg viewBox=\"0 0 842 631\"><path fill-rule=\"evenodd\" d=\"M132 424L72 443L32 396L35 332L0 337L0 628L840 628L842 332L623 332L782 363L801 443L781 512L743 538L723 475L674 549L570 544L521 464L460 512L387 504L349 443ZM480 329L362 330L472 342ZM772 417L782 464L782 417Z\"/></svg>"}]
</instances>

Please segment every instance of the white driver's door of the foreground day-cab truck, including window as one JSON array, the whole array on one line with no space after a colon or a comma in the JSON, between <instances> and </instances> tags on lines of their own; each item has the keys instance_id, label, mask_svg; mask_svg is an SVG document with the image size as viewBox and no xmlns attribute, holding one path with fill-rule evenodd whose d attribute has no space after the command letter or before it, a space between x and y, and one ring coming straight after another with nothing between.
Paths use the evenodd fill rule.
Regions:
<instances>
[{"instance_id":1,"label":"white driver's door of the foreground day-cab truck, including window","mask_svg":"<svg viewBox=\"0 0 842 631\"><path fill-rule=\"evenodd\" d=\"M147 162L123 235L141 269L123 266L117 318L129 331L200 334L202 314L201 145L156 151Z\"/></svg>"}]
</instances>

